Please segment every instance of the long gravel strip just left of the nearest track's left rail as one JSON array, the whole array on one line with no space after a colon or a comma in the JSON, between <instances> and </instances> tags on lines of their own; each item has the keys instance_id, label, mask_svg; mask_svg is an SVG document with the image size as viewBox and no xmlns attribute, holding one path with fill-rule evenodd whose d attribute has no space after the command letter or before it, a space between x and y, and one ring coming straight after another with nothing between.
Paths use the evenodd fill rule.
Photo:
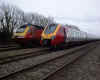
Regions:
<instances>
[{"instance_id":1,"label":"long gravel strip just left of the nearest track's left rail","mask_svg":"<svg viewBox=\"0 0 100 80\"><path fill-rule=\"evenodd\" d=\"M86 46L86 45L84 45L84 46ZM75 50L75 49L78 49L78 48L67 50L67 52L68 51L70 52L70 51ZM60 53L63 53L63 54L60 54ZM14 72L17 72L17 71L20 71L20 70L23 70L23 69L26 69L29 67L33 67L37 64L40 64L42 62L48 61L50 59L53 59L55 57L58 57L58 56L61 56L64 54L67 54L67 53L65 53L65 50L59 51L57 53L53 52L52 54L41 55L41 56L37 56L34 58L28 58L25 60L20 60L20 61L8 63L8 64L0 65L0 77L7 76L11 73L14 73Z\"/></svg>"}]
</instances>

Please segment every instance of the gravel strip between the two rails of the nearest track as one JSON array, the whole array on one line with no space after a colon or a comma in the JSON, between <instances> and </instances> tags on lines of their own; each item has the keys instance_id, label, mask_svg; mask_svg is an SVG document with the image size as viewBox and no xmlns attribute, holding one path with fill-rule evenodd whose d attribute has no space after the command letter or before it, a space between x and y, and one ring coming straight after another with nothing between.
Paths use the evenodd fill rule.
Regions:
<instances>
[{"instance_id":1,"label":"gravel strip between the two rails of the nearest track","mask_svg":"<svg viewBox=\"0 0 100 80\"><path fill-rule=\"evenodd\" d=\"M88 52L88 50L90 49L91 48L86 47L84 48L84 50L80 50L76 52L75 54L63 56L54 61L37 66L36 68L32 68L30 70L23 71L22 73L13 75L9 77L7 80L43 80L46 76L48 76L49 74L52 74L57 69L61 68L61 66L63 66L64 64L68 64L69 62L72 62L73 60L78 58L80 55Z\"/></svg>"}]
</instances>

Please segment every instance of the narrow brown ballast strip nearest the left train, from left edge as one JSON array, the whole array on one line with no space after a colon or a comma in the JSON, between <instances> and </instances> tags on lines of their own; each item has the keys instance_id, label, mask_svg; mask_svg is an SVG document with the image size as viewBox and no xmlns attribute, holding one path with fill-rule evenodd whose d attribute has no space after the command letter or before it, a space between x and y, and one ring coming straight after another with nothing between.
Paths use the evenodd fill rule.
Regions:
<instances>
[{"instance_id":1,"label":"narrow brown ballast strip nearest the left train, from left edge","mask_svg":"<svg viewBox=\"0 0 100 80\"><path fill-rule=\"evenodd\" d=\"M0 53L0 60L13 58L13 57L16 57L16 56L28 54L28 53L35 52L35 51L42 50L42 49L43 48L41 48L41 47L39 47L39 48L25 48L25 49L1 52Z\"/></svg>"}]
</instances>

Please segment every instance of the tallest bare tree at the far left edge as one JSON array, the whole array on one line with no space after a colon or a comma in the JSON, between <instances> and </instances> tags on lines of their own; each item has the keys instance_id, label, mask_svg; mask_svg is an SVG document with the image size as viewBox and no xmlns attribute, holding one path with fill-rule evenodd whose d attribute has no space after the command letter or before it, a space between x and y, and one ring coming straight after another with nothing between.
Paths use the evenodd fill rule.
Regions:
<instances>
[{"instance_id":1,"label":"tallest bare tree at the far left edge","mask_svg":"<svg viewBox=\"0 0 100 80\"><path fill-rule=\"evenodd\" d=\"M19 23L21 10L9 4L2 4L0 11L2 12L0 15L0 32L3 37L8 38L12 36L14 27Z\"/></svg>"}]
</instances>

